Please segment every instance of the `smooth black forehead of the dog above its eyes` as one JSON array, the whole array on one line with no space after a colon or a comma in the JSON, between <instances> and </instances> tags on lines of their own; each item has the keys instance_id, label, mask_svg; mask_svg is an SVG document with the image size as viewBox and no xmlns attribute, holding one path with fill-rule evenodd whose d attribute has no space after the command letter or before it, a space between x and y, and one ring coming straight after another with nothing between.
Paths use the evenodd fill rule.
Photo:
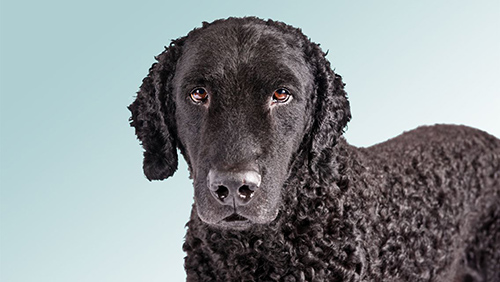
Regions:
<instances>
[{"instance_id":1,"label":"smooth black forehead of the dog above its eyes","mask_svg":"<svg viewBox=\"0 0 500 282\"><path fill-rule=\"evenodd\" d=\"M290 82L302 88L309 81L302 76L310 73L303 44L295 34L264 24L209 26L186 39L176 81L252 80L274 86Z\"/></svg>"}]
</instances>

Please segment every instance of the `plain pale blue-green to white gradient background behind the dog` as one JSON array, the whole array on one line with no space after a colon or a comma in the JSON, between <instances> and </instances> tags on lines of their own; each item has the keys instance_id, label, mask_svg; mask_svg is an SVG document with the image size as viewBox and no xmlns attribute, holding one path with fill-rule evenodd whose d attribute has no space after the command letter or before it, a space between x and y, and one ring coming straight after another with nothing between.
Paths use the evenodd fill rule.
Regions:
<instances>
[{"instance_id":1,"label":"plain pale blue-green to white gradient background behind the dog","mask_svg":"<svg viewBox=\"0 0 500 282\"><path fill-rule=\"evenodd\" d=\"M186 165L148 182L129 105L202 21L301 27L347 83L347 139L422 124L500 136L500 2L14 1L1 6L1 269L11 281L182 281Z\"/></svg>"}]
</instances>

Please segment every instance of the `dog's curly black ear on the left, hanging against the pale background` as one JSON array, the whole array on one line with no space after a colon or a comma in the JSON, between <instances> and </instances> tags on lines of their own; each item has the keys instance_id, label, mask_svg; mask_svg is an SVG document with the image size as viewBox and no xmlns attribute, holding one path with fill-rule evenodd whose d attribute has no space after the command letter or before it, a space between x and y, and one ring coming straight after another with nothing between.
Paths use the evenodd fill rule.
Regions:
<instances>
[{"instance_id":1,"label":"dog's curly black ear on the left, hanging against the pale background","mask_svg":"<svg viewBox=\"0 0 500 282\"><path fill-rule=\"evenodd\" d=\"M144 174L149 180L163 180L177 170L177 129L172 77L182 51L183 40L172 41L156 57L157 62L142 80L136 100L128 107L130 125L144 148Z\"/></svg>"}]
</instances>

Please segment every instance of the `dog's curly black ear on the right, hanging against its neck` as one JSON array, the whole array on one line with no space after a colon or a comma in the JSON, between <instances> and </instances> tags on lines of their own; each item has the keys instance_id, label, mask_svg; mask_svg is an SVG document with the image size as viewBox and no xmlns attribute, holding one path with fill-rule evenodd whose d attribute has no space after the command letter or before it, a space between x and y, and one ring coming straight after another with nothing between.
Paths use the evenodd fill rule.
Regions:
<instances>
[{"instance_id":1,"label":"dog's curly black ear on the right, hanging against its neck","mask_svg":"<svg viewBox=\"0 0 500 282\"><path fill-rule=\"evenodd\" d=\"M335 145L351 119L342 77L335 74L326 54L312 44L310 58L315 69L314 116L311 128L309 169L313 178L325 184L337 177Z\"/></svg>"}]
</instances>

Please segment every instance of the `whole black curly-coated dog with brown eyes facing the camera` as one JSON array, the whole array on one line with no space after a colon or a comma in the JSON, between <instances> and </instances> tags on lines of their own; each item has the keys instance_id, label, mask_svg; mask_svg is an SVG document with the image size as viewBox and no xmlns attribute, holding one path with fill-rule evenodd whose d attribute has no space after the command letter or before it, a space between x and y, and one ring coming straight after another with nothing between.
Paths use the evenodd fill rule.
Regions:
<instances>
[{"instance_id":1,"label":"whole black curly-coated dog with brown eyes facing the camera","mask_svg":"<svg viewBox=\"0 0 500 282\"><path fill-rule=\"evenodd\" d=\"M279 22L204 23L157 60L131 124L148 179L177 148L189 165L187 280L500 281L495 137L438 125L348 145L341 77Z\"/></svg>"}]
</instances>

